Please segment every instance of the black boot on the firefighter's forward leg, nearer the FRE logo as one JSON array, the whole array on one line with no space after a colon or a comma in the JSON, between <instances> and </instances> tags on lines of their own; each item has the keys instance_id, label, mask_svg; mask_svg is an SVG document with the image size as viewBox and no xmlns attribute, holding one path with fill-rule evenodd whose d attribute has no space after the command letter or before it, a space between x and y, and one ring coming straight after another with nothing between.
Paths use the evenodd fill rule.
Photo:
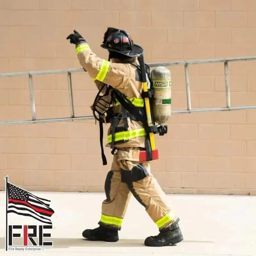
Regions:
<instances>
[{"instance_id":1,"label":"black boot on the firefighter's forward leg, nearer the FRE logo","mask_svg":"<svg viewBox=\"0 0 256 256\"><path fill-rule=\"evenodd\" d=\"M117 242L119 239L118 230L103 226L94 229L85 229L82 235L91 241Z\"/></svg>"}]
</instances>

